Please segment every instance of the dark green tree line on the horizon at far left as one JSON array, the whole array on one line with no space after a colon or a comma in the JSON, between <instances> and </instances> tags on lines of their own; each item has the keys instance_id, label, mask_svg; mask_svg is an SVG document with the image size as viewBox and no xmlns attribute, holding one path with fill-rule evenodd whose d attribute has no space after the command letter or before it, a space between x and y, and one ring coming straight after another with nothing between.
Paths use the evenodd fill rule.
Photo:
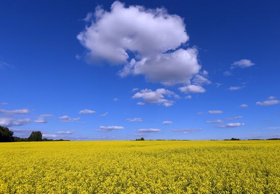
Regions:
<instances>
[{"instance_id":1,"label":"dark green tree line on the horizon at far left","mask_svg":"<svg viewBox=\"0 0 280 194\"><path fill-rule=\"evenodd\" d=\"M33 131L29 137L21 138L15 137L14 132L10 131L8 127L0 126L0 142L13 142L13 141L69 141L64 139L47 139L42 138L41 131Z\"/></svg>"}]
</instances>

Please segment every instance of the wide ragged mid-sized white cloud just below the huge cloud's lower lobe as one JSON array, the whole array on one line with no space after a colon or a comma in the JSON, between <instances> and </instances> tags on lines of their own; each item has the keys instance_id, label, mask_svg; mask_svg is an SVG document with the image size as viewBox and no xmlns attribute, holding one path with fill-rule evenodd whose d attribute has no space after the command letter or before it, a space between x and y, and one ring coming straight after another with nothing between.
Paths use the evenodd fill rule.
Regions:
<instances>
[{"instance_id":1,"label":"wide ragged mid-sized white cloud just below the huge cloud's lower lobe","mask_svg":"<svg viewBox=\"0 0 280 194\"><path fill-rule=\"evenodd\" d=\"M180 98L177 94L170 90L166 90L164 88L156 89L152 91L150 89L143 89L137 93L135 93L132 98L133 99L142 99L142 102L138 102L138 105L145 104L162 104L163 106L172 106L174 101L165 99L165 96Z\"/></svg>"}]
</instances>

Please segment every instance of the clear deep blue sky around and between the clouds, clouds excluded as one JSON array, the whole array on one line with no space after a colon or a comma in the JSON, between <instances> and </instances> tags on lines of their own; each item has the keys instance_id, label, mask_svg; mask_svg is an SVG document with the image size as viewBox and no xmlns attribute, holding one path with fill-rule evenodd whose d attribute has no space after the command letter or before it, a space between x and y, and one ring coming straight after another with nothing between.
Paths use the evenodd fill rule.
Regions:
<instances>
[{"instance_id":1,"label":"clear deep blue sky around and between the clouds, clouds excluded","mask_svg":"<svg viewBox=\"0 0 280 194\"><path fill-rule=\"evenodd\" d=\"M122 66L88 65L77 60L85 48L76 36L85 29L82 21L88 12L102 5L109 10L114 1L2 1L0 3L0 109L32 110L14 116L36 119L53 114L48 123L30 123L16 129L40 130L55 134L74 130L70 139L135 139L135 130L161 129L147 139L225 139L280 137L280 105L257 106L269 96L280 99L280 2L279 1L125 1L126 5L146 8L165 7L170 14L184 18L190 40L188 46L199 49L202 68L209 72L213 84L207 92L184 99L178 86L165 87L149 83L143 76L120 78ZM232 70L234 61L249 59L256 65ZM221 83L216 87L214 83ZM244 88L230 91L230 86ZM171 107L156 104L138 106L132 88L166 88L182 96ZM115 102L114 98L119 101ZM248 108L238 108L240 104ZM79 115L82 109L96 113ZM223 114L208 114L222 110ZM205 112L198 115L197 112ZM100 114L108 112L105 117ZM58 117L80 117L78 123L62 123ZM11 115L8 115L11 116ZM243 116L245 126L219 129L206 120ZM7 117L1 115L0 117ZM143 122L129 123L126 118L141 117ZM270 119L269 121L263 121ZM171 120L172 125L162 125ZM123 126L124 130L98 132L99 126ZM171 129L202 129L195 133L178 133ZM66 138L66 137L65 137Z\"/></svg>"}]
</instances>

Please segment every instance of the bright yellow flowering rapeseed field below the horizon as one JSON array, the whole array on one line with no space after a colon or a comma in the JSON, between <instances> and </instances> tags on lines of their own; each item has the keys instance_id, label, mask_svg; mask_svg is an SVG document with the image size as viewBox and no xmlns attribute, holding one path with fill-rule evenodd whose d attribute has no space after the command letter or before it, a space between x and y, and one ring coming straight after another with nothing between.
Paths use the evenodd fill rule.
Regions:
<instances>
[{"instance_id":1,"label":"bright yellow flowering rapeseed field below the horizon","mask_svg":"<svg viewBox=\"0 0 280 194\"><path fill-rule=\"evenodd\" d=\"M0 193L280 193L280 141L0 143Z\"/></svg>"}]
</instances>

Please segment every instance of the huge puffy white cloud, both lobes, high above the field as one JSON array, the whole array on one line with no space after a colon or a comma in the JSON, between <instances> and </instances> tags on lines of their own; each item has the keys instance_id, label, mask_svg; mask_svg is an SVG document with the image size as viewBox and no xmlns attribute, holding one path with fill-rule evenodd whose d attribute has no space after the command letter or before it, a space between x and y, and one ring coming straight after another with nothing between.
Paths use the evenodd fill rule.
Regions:
<instances>
[{"instance_id":1,"label":"huge puffy white cloud, both lobes, high above the field","mask_svg":"<svg viewBox=\"0 0 280 194\"><path fill-rule=\"evenodd\" d=\"M109 12L97 7L91 26L77 38L88 50L88 61L125 64L121 77L144 75L164 85L189 84L201 69L196 48L178 49L189 39L183 19L164 8L125 7L118 1ZM130 62L128 51L135 56Z\"/></svg>"}]
</instances>

